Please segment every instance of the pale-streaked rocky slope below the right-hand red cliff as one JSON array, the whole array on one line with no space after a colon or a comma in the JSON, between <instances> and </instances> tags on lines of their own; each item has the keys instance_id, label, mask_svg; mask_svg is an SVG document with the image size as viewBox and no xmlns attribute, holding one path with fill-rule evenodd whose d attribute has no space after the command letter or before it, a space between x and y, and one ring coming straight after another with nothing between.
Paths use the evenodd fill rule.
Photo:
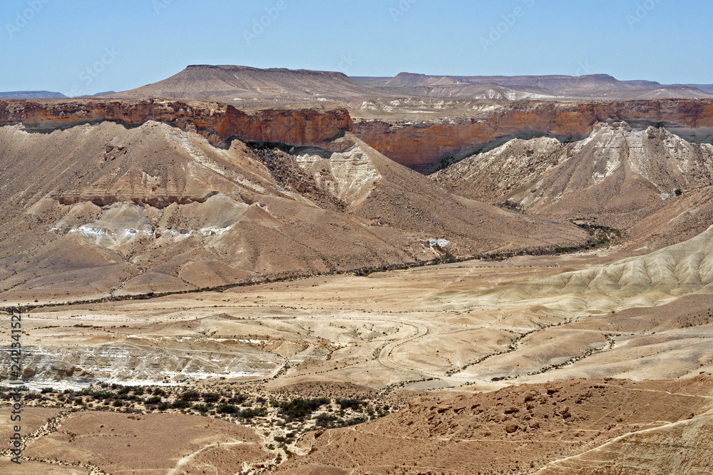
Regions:
<instances>
[{"instance_id":1,"label":"pale-streaked rocky slope below the right-hand red cliff","mask_svg":"<svg viewBox=\"0 0 713 475\"><path fill-rule=\"evenodd\" d=\"M667 207L680 216L685 210L675 203L683 192L708 193L702 188L713 182L713 145L689 143L664 128L598 124L583 141L513 140L432 178L476 200L628 231ZM708 208L707 201L689 205L690 211ZM709 225L700 224L698 232ZM640 225L633 237L655 225Z\"/></svg>"}]
</instances>

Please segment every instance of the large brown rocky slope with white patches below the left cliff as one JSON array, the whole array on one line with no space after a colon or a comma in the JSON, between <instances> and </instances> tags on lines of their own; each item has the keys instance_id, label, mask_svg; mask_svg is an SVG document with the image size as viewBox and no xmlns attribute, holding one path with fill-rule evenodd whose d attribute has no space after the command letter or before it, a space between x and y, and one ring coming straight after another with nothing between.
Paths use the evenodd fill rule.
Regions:
<instances>
[{"instance_id":1,"label":"large brown rocky slope with white patches below the left cliff","mask_svg":"<svg viewBox=\"0 0 713 475\"><path fill-rule=\"evenodd\" d=\"M430 239L466 255L585 239L459 198L352 136L327 145L216 148L154 121L0 128L0 290L188 290L428 260Z\"/></svg>"}]
</instances>

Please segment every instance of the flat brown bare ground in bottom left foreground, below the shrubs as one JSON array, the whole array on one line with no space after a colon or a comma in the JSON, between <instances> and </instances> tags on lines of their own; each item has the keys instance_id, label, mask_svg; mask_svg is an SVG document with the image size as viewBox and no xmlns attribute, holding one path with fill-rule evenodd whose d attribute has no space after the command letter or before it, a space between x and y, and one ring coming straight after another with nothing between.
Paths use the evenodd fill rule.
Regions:
<instances>
[{"instance_id":1,"label":"flat brown bare ground in bottom left foreground, below the shrubs","mask_svg":"<svg viewBox=\"0 0 713 475\"><path fill-rule=\"evenodd\" d=\"M267 459L252 429L183 414L80 412L28 444L24 455L108 474L235 474Z\"/></svg>"}]
</instances>

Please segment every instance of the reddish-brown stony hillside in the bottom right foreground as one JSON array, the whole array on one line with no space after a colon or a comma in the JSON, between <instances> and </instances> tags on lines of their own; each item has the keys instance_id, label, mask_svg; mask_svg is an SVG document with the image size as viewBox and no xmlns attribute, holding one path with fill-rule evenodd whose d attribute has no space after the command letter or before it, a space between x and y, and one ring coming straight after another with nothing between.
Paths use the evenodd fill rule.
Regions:
<instances>
[{"instance_id":1,"label":"reddish-brown stony hillside in the bottom right foreground","mask_svg":"<svg viewBox=\"0 0 713 475\"><path fill-rule=\"evenodd\" d=\"M564 470L543 473L642 473L621 471L625 464L595 471L596 457L589 455L597 447L612 461L662 451L640 461L639 469L659 470L651 473L704 473L677 469L709 468L709 444L694 434L709 430L712 382L710 374L640 383L575 379L452 399L416 398L408 409L378 421L309 434L302 441L308 454L275 473L319 474L317 467L332 466L343 470L334 471L339 474L528 474L583 452L575 461L553 464ZM676 440L681 432L687 437ZM630 451L619 453L617 445Z\"/></svg>"}]
</instances>

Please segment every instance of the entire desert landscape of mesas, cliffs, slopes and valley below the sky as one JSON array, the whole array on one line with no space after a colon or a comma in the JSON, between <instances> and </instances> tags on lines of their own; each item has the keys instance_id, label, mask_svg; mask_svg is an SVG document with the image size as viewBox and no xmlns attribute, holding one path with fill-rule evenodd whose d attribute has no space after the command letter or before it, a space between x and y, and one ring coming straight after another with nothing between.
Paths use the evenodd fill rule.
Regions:
<instances>
[{"instance_id":1,"label":"entire desert landscape of mesas, cliffs, slopes and valley below the sky","mask_svg":"<svg viewBox=\"0 0 713 475\"><path fill-rule=\"evenodd\" d=\"M0 474L713 473L713 86L347 62L0 93Z\"/></svg>"}]
</instances>

